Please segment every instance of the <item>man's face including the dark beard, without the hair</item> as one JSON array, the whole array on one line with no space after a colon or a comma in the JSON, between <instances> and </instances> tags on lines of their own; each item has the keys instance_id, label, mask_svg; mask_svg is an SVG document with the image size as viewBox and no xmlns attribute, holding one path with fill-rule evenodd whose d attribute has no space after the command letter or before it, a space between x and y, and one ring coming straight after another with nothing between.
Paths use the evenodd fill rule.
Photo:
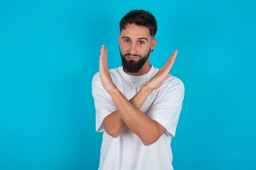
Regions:
<instances>
[{"instance_id":1,"label":"man's face including the dark beard, without the hair","mask_svg":"<svg viewBox=\"0 0 256 170\"><path fill-rule=\"evenodd\" d=\"M149 29L128 24L119 35L119 49L125 71L137 73L148 60L151 50Z\"/></svg>"}]
</instances>

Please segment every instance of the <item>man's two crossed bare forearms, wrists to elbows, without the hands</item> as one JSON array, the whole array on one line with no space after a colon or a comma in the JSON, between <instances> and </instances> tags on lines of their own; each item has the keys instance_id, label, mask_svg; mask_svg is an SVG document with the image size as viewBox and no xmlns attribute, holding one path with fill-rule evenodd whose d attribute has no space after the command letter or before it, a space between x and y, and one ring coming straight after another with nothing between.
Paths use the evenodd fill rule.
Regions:
<instances>
[{"instance_id":1,"label":"man's two crossed bare forearms, wrists to elbows, without the hands","mask_svg":"<svg viewBox=\"0 0 256 170\"><path fill-rule=\"evenodd\" d=\"M147 146L156 142L166 130L165 127L140 111L151 92L150 88L143 86L129 101L117 88L111 91L110 95L118 110L103 120L106 132L113 137L117 137L127 125L140 137L144 145Z\"/></svg>"}]
</instances>

